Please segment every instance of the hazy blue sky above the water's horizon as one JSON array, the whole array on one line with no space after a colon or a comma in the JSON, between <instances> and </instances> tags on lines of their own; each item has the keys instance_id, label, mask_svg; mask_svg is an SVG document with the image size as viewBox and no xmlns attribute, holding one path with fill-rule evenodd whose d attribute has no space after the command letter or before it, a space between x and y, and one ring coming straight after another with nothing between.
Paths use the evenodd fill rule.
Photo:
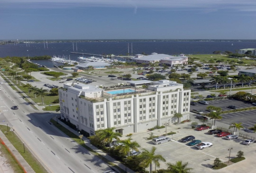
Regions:
<instances>
[{"instance_id":1,"label":"hazy blue sky above the water's horizon","mask_svg":"<svg viewBox=\"0 0 256 173\"><path fill-rule=\"evenodd\" d=\"M256 39L256 0L0 0L0 40Z\"/></svg>"}]
</instances>

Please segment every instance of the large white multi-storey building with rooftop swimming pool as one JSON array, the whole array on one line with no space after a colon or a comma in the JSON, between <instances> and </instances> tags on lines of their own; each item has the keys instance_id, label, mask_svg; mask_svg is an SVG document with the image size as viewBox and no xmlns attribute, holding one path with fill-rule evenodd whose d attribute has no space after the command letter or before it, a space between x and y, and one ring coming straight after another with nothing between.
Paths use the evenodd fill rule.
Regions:
<instances>
[{"instance_id":1,"label":"large white multi-storey building with rooftop swimming pool","mask_svg":"<svg viewBox=\"0 0 256 173\"><path fill-rule=\"evenodd\" d=\"M129 134L171 124L176 112L183 115L181 121L189 119L191 90L169 80L150 82L146 90L131 87L113 95L92 85L65 83L59 89L61 119L90 135L110 127Z\"/></svg>"}]
</instances>

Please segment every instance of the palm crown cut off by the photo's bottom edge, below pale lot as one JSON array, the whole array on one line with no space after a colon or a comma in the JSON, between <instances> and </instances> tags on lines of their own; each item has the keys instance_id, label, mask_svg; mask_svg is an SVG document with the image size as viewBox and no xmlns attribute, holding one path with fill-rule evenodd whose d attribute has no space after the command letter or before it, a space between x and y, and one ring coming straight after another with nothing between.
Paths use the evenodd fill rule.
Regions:
<instances>
[{"instance_id":1,"label":"palm crown cut off by the photo's bottom edge, below pale lot","mask_svg":"<svg viewBox=\"0 0 256 173\"><path fill-rule=\"evenodd\" d=\"M176 164L166 163L168 166L167 172L170 173L191 173L193 168L189 168L188 162L182 163L182 161L177 161Z\"/></svg>"}]
</instances>

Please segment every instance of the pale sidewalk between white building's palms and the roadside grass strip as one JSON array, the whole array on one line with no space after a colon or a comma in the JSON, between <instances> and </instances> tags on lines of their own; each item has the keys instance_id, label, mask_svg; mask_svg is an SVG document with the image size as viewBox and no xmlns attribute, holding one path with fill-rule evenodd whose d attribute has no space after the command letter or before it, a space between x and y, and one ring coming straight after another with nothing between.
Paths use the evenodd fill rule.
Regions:
<instances>
[{"instance_id":1,"label":"pale sidewalk between white building's palms and the roadside grass strip","mask_svg":"<svg viewBox=\"0 0 256 173\"><path fill-rule=\"evenodd\" d=\"M53 120L55 120L55 119L53 119ZM56 120L55 120L55 121L56 121ZM61 124L61 125L62 125L63 127L65 127L66 129L68 129L70 132L76 134L77 136L80 135L76 130L70 128L68 125L66 125L66 124L63 123L62 121L59 120L58 123ZM90 144L90 140L89 140L87 137L83 137L83 140L84 140L84 143L85 143L86 146L90 147L92 150L94 150L94 151L96 151L97 153L101 154L104 158L106 158L107 160L109 160L110 162L112 162L113 164L115 164L116 166L118 166L119 168L121 168L122 170L124 170L124 172L125 172L125 165L123 165L123 164L120 163L119 161L115 160L114 158L110 157L108 154L104 153L102 150L99 150L99 149L97 149L95 146L91 145L91 144ZM85 149L85 150L86 150L86 149ZM93 153L91 153L91 154L93 154ZM107 163L106 163L106 164L107 164ZM110 165L108 165L108 166L111 167L113 170L115 170L115 171L117 171L117 172L120 172L120 171L116 170L115 167L112 167L112 166L110 166ZM132 170L129 169L128 167L127 167L126 169L127 169L127 172L129 172L129 173L135 173L134 171L132 171Z\"/></svg>"}]
</instances>

